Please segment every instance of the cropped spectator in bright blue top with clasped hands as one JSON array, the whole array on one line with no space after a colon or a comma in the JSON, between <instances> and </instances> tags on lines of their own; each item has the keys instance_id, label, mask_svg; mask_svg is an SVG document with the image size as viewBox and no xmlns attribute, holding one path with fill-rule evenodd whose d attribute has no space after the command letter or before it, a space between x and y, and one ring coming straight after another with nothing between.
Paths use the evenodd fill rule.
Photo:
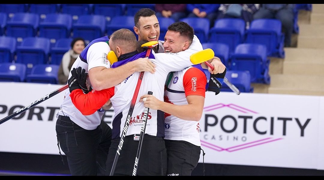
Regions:
<instances>
[{"instance_id":1,"label":"cropped spectator in bright blue top with clasped hands","mask_svg":"<svg viewBox=\"0 0 324 180\"><path fill-rule=\"evenodd\" d=\"M208 18L213 27L218 7L219 4L188 4L187 10L191 12L188 17Z\"/></svg>"}]
</instances>

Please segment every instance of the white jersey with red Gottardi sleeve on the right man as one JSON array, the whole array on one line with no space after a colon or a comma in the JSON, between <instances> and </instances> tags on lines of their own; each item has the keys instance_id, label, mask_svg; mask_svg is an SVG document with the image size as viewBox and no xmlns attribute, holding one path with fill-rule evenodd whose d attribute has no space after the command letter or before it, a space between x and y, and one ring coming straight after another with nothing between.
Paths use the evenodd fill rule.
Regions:
<instances>
[{"instance_id":1,"label":"white jersey with red Gottardi sleeve on the right man","mask_svg":"<svg viewBox=\"0 0 324 180\"><path fill-rule=\"evenodd\" d=\"M195 67L171 73L165 90L165 101L174 105L187 105L186 96L199 95L205 97L206 75ZM200 146L199 122L183 120L167 114L165 117L166 140L187 141Z\"/></svg>"}]
</instances>

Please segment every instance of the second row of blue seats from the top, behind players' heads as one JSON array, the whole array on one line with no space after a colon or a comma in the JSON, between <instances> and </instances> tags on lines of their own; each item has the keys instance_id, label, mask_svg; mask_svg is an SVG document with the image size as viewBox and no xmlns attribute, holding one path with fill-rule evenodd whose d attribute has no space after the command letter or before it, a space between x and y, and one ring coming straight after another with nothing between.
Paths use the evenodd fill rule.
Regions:
<instances>
[{"instance_id":1,"label":"second row of blue seats from the top, behind players' heads","mask_svg":"<svg viewBox=\"0 0 324 180\"><path fill-rule=\"evenodd\" d=\"M70 18L68 18L70 17ZM6 23L6 35L23 38L35 36L39 29L39 37L56 39L68 38L73 31L73 37L82 37L86 42L110 35L120 28L128 28L133 31L134 20L132 16L117 16L111 20L111 24L105 26L105 19L100 15L80 16L76 24L71 23L71 15L50 14L44 22L38 25L37 16L34 14L17 13ZM201 42L226 43L232 53L237 44L259 43L267 46L267 55L284 58L284 35L281 32L281 22L277 19L253 20L250 28L245 29L242 19L225 18L215 21L213 28L209 29L209 20L205 18L184 18L181 21L191 25ZM1 22L1 21L0 21ZM174 22L171 18L159 18L160 39L164 38L167 28ZM4 31L4 30L3 30ZM265 40L266 39L266 40ZM18 41L18 43L20 43Z\"/></svg>"}]
</instances>

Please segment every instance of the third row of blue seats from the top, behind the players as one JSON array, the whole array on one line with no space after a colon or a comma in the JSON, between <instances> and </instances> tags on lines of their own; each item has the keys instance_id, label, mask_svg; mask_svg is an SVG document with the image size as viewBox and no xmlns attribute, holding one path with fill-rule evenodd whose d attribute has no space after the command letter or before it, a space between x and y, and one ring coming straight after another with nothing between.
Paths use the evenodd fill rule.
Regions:
<instances>
[{"instance_id":1,"label":"third row of blue seats from the top, behind the players","mask_svg":"<svg viewBox=\"0 0 324 180\"><path fill-rule=\"evenodd\" d=\"M29 74L36 64L59 65L63 54L69 50L71 41L72 39L59 39L50 51L50 40L46 38L25 38L21 46L16 48L14 38L0 37L0 62L12 62L16 55L15 62L26 64ZM213 49L215 55L221 59L228 69L250 71L252 82L270 83L267 73L269 60L267 59L265 45L239 44L233 54L229 53L228 45L222 43L203 43L203 48ZM241 57L242 54L248 54L250 59L252 57L252 64L249 64L249 61L242 61L246 58L246 56Z\"/></svg>"}]
</instances>

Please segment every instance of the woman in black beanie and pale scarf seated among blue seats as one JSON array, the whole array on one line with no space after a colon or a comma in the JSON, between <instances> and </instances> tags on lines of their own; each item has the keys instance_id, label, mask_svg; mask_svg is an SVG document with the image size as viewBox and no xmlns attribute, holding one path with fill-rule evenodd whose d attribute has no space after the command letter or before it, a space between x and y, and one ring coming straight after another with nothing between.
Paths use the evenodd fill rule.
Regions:
<instances>
[{"instance_id":1,"label":"woman in black beanie and pale scarf seated among blue seats","mask_svg":"<svg viewBox=\"0 0 324 180\"><path fill-rule=\"evenodd\" d=\"M82 38L75 38L71 42L71 49L63 55L62 62L60 64L58 79L59 84L66 84L69 77L70 69L76 58L79 57L85 46L85 41Z\"/></svg>"}]
</instances>

